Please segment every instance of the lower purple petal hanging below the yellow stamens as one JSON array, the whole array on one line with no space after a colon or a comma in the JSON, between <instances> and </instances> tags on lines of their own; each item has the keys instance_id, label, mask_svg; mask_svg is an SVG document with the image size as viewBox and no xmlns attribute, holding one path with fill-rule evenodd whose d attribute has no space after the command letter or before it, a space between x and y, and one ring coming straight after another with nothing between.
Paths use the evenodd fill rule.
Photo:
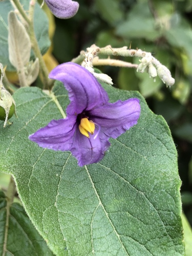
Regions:
<instances>
[{"instance_id":1,"label":"lower purple petal hanging below the yellow stamens","mask_svg":"<svg viewBox=\"0 0 192 256\"><path fill-rule=\"evenodd\" d=\"M100 133L96 139L94 139L94 135L87 138L77 130L76 143L73 144L71 153L78 160L78 165L83 166L99 162L111 145L108 139L109 137L103 133Z\"/></svg>"}]
</instances>

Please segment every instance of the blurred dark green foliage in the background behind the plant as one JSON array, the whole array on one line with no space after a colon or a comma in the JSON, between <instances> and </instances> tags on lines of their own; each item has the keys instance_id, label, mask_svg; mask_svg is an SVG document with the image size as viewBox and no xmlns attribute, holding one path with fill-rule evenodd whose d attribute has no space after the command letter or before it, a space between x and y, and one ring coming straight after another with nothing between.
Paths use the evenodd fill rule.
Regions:
<instances>
[{"instance_id":1,"label":"blurred dark green foliage in the background behind the plant","mask_svg":"<svg viewBox=\"0 0 192 256\"><path fill-rule=\"evenodd\" d=\"M170 69L176 83L167 90L159 79L154 83L147 74L137 73L134 69L99 67L103 73L113 78L115 87L139 90L152 111L162 115L167 121L177 145L183 210L188 222L192 224L192 1L79 0L78 3L79 11L73 18L55 18L55 24L50 18L50 51L55 59L51 55L45 57L48 67L51 69L57 61L70 61L82 49L86 50L90 45L96 44L99 47L131 45L133 49L152 52ZM53 36L54 27L56 30ZM4 39L2 38L0 40ZM122 59L139 63L138 59ZM13 78L13 74L10 78ZM34 85L39 87L39 79ZM3 189L7 186L7 180L8 177L2 174L0 185ZM6 205L3 194L1 198L1 207L4 209ZM19 207L18 204L15 205L20 215L25 215ZM14 216L14 207L12 214ZM18 216L17 219L19 220ZM184 229L186 226L188 228L186 219L183 219L183 223ZM40 244L42 252L38 255L52 255L35 230L31 236L39 241L29 247L31 251L34 248L38 250ZM186 248L188 255L190 251L191 248Z\"/></svg>"}]
</instances>

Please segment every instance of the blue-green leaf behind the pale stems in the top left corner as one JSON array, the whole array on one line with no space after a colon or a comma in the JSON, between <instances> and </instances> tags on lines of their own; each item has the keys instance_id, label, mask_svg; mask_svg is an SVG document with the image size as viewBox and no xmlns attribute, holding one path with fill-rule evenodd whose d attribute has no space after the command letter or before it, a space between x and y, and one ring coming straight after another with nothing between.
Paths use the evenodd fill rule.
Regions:
<instances>
[{"instance_id":1,"label":"blue-green leaf behind the pale stems in the top left corner","mask_svg":"<svg viewBox=\"0 0 192 256\"><path fill-rule=\"evenodd\" d=\"M22 4L26 11L29 10L28 0L20 0L19 2ZM15 68L11 65L9 61L8 52L8 13L13 10L14 8L11 5L11 1L0 1L0 59L1 63L4 66L7 66L7 71L15 71ZM43 55L47 52L50 46L48 34L49 23L45 12L40 9L40 6L38 4L35 5L34 11L34 30L41 54ZM31 52L31 59L35 59L33 52Z\"/></svg>"}]
</instances>

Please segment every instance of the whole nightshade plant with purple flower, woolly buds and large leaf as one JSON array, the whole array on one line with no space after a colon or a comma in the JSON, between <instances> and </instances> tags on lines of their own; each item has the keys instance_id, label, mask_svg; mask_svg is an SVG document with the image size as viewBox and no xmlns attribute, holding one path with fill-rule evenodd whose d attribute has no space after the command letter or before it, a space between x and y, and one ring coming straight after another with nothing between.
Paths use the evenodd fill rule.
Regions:
<instances>
[{"instance_id":1,"label":"whole nightshade plant with purple flower, woolly buds and large leaf","mask_svg":"<svg viewBox=\"0 0 192 256\"><path fill-rule=\"evenodd\" d=\"M60 18L79 7L45 3ZM181 180L168 125L139 92L116 89L95 66L135 68L169 88L170 71L140 49L92 45L49 74L42 57L51 58L48 18L38 3L1 1L0 16L7 116L0 123L0 170L11 175L0 193L0 254L184 255ZM13 71L11 84L6 74ZM13 95L3 97L5 89Z\"/></svg>"}]
</instances>

